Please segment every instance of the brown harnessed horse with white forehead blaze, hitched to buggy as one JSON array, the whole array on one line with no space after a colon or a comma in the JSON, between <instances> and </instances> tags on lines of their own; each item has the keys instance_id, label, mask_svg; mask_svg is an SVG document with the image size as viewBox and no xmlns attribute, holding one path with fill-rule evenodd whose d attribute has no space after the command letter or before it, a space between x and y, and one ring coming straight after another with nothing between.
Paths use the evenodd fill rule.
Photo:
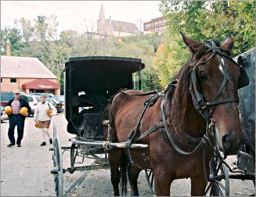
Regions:
<instances>
[{"instance_id":1,"label":"brown harnessed horse with white forehead blaze, hitched to buggy","mask_svg":"<svg viewBox=\"0 0 256 197\"><path fill-rule=\"evenodd\" d=\"M225 155L239 149L237 90L248 81L231 57L233 38L221 45L181 35L191 57L164 92L118 91L106 106L104 119L110 123L103 131L108 141L148 145L108 150L114 195L120 195L120 180L126 189L126 174L132 195L139 195L137 179L143 169L153 170L157 195L170 195L171 182L181 178L190 178L191 195L204 195L215 150L210 142L215 139ZM213 127L215 134L209 129Z\"/></svg>"}]
</instances>

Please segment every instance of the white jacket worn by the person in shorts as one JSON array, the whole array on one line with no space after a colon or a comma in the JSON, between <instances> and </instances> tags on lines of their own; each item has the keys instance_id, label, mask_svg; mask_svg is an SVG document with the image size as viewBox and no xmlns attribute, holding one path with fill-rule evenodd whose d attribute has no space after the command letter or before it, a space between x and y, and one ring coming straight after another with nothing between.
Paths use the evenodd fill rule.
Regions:
<instances>
[{"instance_id":1,"label":"white jacket worn by the person in shorts","mask_svg":"<svg viewBox=\"0 0 256 197\"><path fill-rule=\"evenodd\" d=\"M38 106L34 110L34 121L45 121L51 120L52 116L48 116L46 113L47 109L52 109L52 116L56 115L57 109L52 105L51 102L45 101L45 103L38 103Z\"/></svg>"}]
</instances>

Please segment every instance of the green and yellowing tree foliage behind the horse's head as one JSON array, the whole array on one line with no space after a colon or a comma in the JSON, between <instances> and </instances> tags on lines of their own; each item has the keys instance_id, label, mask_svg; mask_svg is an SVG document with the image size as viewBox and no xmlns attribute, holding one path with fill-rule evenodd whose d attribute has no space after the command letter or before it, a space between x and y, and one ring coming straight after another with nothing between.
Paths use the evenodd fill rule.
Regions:
<instances>
[{"instance_id":1,"label":"green and yellowing tree foliage behind the horse's head","mask_svg":"<svg viewBox=\"0 0 256 197\"><path fill-rule=\"evenodd\" d=\"M200 42L222 42L231 34L233 56L254 47L254 1L162 1L160 12L168 19L168 31L153 59L161 87L189 58L179 31Z\"/></svg>"}]
</instances>

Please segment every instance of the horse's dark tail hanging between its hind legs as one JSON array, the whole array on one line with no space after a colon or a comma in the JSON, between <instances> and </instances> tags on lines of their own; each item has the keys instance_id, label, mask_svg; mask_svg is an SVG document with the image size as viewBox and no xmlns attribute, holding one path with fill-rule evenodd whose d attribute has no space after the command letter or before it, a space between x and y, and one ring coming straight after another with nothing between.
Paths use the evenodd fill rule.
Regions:
<instances>
[{"instance_id":1,"label":"horse's dark tail hanging between its hind legs","mask_svg":"<svg viewBox=\"0 0 256 197\"><path fill-rule=\"evenodd\" d=\"M127 169L128 169L128 156L122 152L121 163L120 163L120 173L121 173L121 190L122 195L127 193Z\"/></svg>"}]
</instances>

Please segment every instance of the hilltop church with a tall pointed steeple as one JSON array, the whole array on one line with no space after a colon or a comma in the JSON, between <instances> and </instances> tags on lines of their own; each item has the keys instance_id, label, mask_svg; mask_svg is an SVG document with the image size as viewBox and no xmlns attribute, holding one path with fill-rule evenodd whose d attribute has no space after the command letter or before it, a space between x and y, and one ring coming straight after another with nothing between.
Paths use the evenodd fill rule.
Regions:
<instances>
[{"instance_id":1,"label":"hilltop church with a tall pointed steeple","mask_svg":"<svg viewBox=\"0 0 256 197\"><path fill-rule=\"evenodd\" d=\"M135 23L111 20L105 18L103 4L101 5L99 20L97 20L97 34L114 37L125 37L139 33Z\"/></svg>"}]
</instances>

